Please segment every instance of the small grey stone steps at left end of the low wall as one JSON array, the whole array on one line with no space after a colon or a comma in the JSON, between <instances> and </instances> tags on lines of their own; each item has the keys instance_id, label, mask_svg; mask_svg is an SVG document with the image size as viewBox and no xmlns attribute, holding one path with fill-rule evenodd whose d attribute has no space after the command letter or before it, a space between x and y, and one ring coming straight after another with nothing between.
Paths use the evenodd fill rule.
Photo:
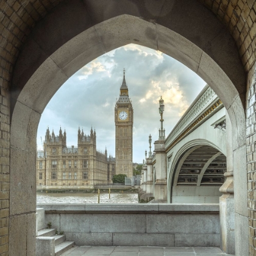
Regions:
<instances>
[{"instance_id":1,"label":"small grey stone steps at left end of the low wall","mask_svg":"<svg viewBox=\"0 0 256 256\"><path fill-rule=\"evenodd\" d=\"M60 256L74 246L74 242L65 241L65 235L56 235L56 229L45 229L44 209L37 208L37 256Z\"/></svg>"}]
</instances>

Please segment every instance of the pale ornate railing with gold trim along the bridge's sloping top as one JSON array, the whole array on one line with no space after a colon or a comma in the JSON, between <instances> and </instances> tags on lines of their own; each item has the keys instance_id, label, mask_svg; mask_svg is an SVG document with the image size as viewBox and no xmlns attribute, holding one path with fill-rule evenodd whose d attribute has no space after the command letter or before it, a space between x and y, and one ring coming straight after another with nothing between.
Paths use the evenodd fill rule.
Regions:
<instances>
[{"instance_id":1,"label":"pale ornate railing with gold trim along the bridge's sloping top","mask_svg":"<svg viewBox=\"0 0 256 256\"><path fill-rule=\"evenodd\" d=\"M180 118L179 122L166 138L166 148L174 146L181 138L191 132L205 117L211 114L216 108L223 107L215 91L206 85L197 98L190 105L188 110Z\"/></svg>"}]
</instances>

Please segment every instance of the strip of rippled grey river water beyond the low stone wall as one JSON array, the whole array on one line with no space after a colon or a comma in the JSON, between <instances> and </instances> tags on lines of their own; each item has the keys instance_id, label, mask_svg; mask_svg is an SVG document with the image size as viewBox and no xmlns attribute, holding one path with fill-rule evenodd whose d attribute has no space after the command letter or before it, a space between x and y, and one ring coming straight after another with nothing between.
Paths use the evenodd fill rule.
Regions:
<instances>
[{"instance_id":1,"label":"strip of rippled grey river water beyond the low stone wall","mask_svg":"<svg viewBox=\"0 0 256 256\"><path fill-rule=\"evenodd\" d=\"M100 203L138 204L137 193L100 194ZM37 204L98 204L98 193L37 193Z\"/></svg>"}]
</instances>

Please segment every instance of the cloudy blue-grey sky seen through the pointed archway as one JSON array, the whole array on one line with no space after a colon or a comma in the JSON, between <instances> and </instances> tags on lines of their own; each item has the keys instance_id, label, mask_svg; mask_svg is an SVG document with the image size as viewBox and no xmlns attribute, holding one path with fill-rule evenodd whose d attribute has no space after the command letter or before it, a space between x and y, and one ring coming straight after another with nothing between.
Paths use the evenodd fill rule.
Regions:
<instances>
[{"instance_id":1,"label":"cloudy blue-grey sky seen through the pointed archway","mask_svg":"<svg viewBox=\"0 0 256 256\"><path fill-rule=\"evenodd\" d=\"M158 140L159 99L165 104L166 137L206 83L187 66L160 51L127 44L88 63L70 77L44 109L37 132L42 149L46 129L59 135L66 130L67 146L77 146L77 130L96 130L97 149L115 157L115 102L126 69L126 84L133 105L133 162L142 163L149 151L149 134Z\"/></svg>"}]
</instances>

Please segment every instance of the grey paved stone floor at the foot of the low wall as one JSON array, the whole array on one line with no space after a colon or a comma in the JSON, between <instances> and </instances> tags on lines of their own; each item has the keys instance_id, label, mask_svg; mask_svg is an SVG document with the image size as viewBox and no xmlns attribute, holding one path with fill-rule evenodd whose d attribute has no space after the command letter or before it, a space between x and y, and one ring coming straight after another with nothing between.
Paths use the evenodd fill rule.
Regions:
<instances>
[{"instance_id":1,"label":"grey paved stone floor at the foot of the low wall","mask_svg":"<svg viewBox=\"0 0 256 256\"><path fill-rule=\"evenodd\" d=\"M62 256L217 256L218 247L77 246ZM233 255L230 255L233 256Z\"/></svg>"}]
</instances>

